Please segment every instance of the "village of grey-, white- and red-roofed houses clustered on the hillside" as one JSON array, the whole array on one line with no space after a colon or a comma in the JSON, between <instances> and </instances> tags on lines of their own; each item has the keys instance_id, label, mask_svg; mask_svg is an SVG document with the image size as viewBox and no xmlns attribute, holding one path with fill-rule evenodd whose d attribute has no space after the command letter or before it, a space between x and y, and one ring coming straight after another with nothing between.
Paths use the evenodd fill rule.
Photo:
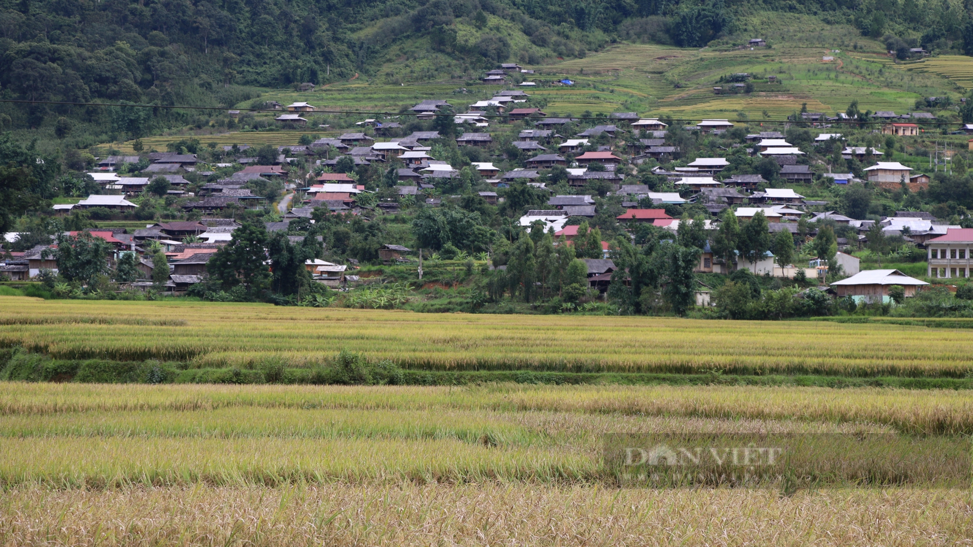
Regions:
<instances>
[{"instance_id":1,"label":"village of grey-, white- and red-roofed houses clustered on the hillside","mask_svg":"<svg viewBox=\"0 0 973 547\"><path fill-rule=\"evenodd\" d=\"M502 85L512 72L530 71L503 64L484 81ZM693 246L699 251L694 274L745 270L763 277L797 276L811 279L806 286L817 286L833 299L888 303L892 287L904 287L904 296L911 297L928 284L896 269L862 268L852 256L856 251L922 253L927 267L919 276L947 279L947 284L969 277L973 268L973 228L964 224L965 210L922 210L918 197L929 192L935 173L890 161L925 131L923 124L935 121L931 112L851 117L801 112L777 124L777 130L726 119L686 124L633 112L565 117L544 112L528 93L534 86L523 82L469 104L462 104L462 94L429 98L402 115L359 117L341 134L299 145L205 149L184 139L167 152L93 159L81 183L90 194L54 204L50 213L77 229L29 248L17 248L29 235L7 234L0 274L10 280L56 275L58 246L90 234L111 249L104 272L117 270L123 259L126 268L133 267L117 279L120 290L187 294L213 274L214 257L234 240L235 231L255 221L270 235L286 235L291 245L316 239L318 250L304 260L307 275L342 290L375 282L360 275L365 263L411 264L421 272L423 252L427 262L479 253L488 270L505 270L512 251L498 249L495 238L513 244L518 238L513 232L523 232L547 234L555 246L574 246L575 256L587 265L587 298L605 300L613 280L631 284L629 266L617 264L617 237L639 243L656 234L683 244L692 239L685 234L694 232L694 225ZM306 126L309 113L319 108L307 102L267 106L280 111L274 120L282 128ZM852 131L853 140L846 136ZM940 164L938 157L930 166L955 168ZM846 197L857 198L815 200L800 192L808 185L837 185L846 189ZM877 193L903 206L877 208L870 198ZM146 211L147 203L155 208ZM437 244L424 242L414 229L385 230L367 239L367 250L350 251L348 241L336 242L325 233L339 227L336 218L347 225L357 219L349 236L358 237L368 231L365 224L374 227L381 219L401 221L440 208L477 214L474 224L483 224L493 236ZM720 235L731 230L723 228L728 215L733 225L760 226L761 233L746 236L743 230L742 237L751 241L721 242ZM442 220L448 216L436 218L449 222ZM111 221L139 219L151 222L135 229L108 227ZM97 221L109 222L99 228ZM592 250L587 239L595 233ZM807 256L804 262L795 260L799 250ZM162 258L167 274L157 264ZM694 283L692 304L713 306L710 288ZM514 296L518 289L510 292Z\"/></svg>"}]
</instances>

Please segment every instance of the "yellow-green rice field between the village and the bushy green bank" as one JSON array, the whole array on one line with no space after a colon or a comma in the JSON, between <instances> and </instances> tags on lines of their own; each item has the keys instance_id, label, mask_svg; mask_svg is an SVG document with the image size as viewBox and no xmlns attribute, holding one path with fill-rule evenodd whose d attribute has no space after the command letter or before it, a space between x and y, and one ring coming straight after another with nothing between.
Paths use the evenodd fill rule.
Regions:
<instances>
[{"instance_id":1,"label":"yellow-green rice field between the village and the bushy green bank","mask_svg":"<svg viewBox=\"0 0 973 547\"><path fill-rule=\"evenodd\" d=\"M348 349L432 370L952 378L973 371L966 329L22 297L0 297L0 346L193 367L251 367L269 357L313 367Z\"/></svg>"}]
</instances>

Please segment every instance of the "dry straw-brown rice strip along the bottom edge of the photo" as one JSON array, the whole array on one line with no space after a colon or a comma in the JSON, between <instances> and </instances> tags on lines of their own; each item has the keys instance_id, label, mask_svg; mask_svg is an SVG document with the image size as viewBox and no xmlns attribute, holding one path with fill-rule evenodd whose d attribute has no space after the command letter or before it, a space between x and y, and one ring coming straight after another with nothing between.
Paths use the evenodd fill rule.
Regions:
<instances>
[{"instance_id":1,"label":"dry straw-brown rice strip along the bottom edge of the photo","mask_svg":"<svg viewBox=\"0 0 973 547\"><path fill-rule=\"evenodd\" d=\"M968 545L962 492L644 491L534 485L18 489L5 546Z\"/></svg>"}]
</instances>

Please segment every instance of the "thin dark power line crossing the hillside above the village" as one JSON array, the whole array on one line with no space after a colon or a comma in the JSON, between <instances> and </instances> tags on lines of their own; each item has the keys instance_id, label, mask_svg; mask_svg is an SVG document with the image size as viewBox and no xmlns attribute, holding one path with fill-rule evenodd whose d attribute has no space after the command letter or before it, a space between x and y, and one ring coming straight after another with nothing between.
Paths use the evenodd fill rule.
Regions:
<instances>
[{"instance_id":1,"label":"thin dark power line crossing the hillside above the village","mask_svg":"<svg viewBox=\"0 0 973 547\"><path fill-rule=\"evenodd\" d=\"M184 105L171 105L171 104L126 104L121 102L70 102L62 100L26 100L26 99L0 99L0 102L16 103L16 104L58 104L67 106L118 106L127 108L164 108L168 110L237 110L246 112L282 112L281 110L276 110L273 108L227 108L223 106L184 106ZM295 113L295 112L291 112ZM297 113L305 113L298 111ZM461 114L437 114L430 112L381 112L374 110L316 110L313 112L306 112L306 114L347 114L347 115L366 115L366 116L458 116ZM534 118L524 118L520 116L511 116L509 114L478 114L477 116L481 118L498 118L504 120L533 120ZM554 117L552 117L554 118ZM568 120L607 120L614 122L624 122L624 120L619 120L616 118L607 117L595 117L595 116L558 116L556 119L568 119ZM642 119L646 120L658 120L657 117L644 116ZM703 122L703 121L718 121L718 122L730 122L736 124L817 124L820 122L811 122L809 120L726 120L723 118L713 119L713 118L667 118L668 121L676 122ZM845 125L859 125L859 126L870 126L870 125L885 125L885 124L915 124L917 126L964 126L963 122L887 122L881 120L828 120L827 124L845 124Z\"/></svg>"}]
</instances>

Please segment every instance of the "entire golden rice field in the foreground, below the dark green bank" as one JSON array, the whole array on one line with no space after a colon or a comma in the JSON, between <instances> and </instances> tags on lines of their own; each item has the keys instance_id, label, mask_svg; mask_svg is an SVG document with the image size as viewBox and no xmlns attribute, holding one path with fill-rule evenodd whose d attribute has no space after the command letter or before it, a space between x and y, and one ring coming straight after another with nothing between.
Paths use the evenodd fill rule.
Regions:
<instances>
[{"instance_id":1,"label":"entire golden rice field in the foreground, below the dark green bank","mask_svg":"<svg viewBox=\"0 0 973 547\"><path fill-rule=\"evenodd\" d=\"M895 433L968 422L970 405L872 388L0 383L0 545L969 545L968 491L618 488L600 455L620 431Z\"/></svg>"}]
</instances>

